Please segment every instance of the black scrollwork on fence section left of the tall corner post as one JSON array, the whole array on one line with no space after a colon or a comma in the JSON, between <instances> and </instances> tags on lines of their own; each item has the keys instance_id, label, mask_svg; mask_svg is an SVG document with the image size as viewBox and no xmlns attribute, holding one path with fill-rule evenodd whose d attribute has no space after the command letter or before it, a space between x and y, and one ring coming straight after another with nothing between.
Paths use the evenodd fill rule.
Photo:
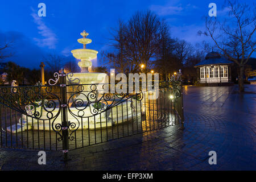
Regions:
<instances>
[{"instance_id":1,"label":"black scrollwork on fence section left of the tall corner post","mask_svg":"<svg viewBox=\"0 0 256 182\"><path fill-rule=\"evenodd\" d=\"M53 119L59 115L60 98L52 89L51 86L2 86L0 102L35 119Z\"/></svg>"}]
</instances>

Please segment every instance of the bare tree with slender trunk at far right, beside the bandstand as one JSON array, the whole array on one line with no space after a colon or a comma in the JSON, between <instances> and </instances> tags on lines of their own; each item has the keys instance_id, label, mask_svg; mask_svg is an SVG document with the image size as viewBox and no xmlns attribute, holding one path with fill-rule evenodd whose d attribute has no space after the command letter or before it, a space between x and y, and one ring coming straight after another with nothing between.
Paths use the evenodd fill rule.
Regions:
<instances>
[{"instance_id":1,"label":"bare tree with slender trunk at far right, beside the bandstand","mask_svg":"<svg viewBox=\"0 0 256 182\"><path fill-rule=\"evenodd\" d=\"M255 52L256 7L253 10L246 3L236 0L226 1L229 8L229 18L219 22L217 18L205 18L206 31L199 35L209 36L221 54L234 61L239 67L240 92L244 92L243 75L245 65Z\"/></svg>"}]
</instances>

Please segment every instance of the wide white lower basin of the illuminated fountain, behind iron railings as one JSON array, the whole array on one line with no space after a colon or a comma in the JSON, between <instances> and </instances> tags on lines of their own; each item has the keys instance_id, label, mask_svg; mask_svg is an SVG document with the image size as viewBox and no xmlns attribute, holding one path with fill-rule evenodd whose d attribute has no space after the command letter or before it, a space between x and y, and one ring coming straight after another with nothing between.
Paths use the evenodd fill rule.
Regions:
<instances>
[{"instance_id":1,"label":"wide white lower basin of the illuminated fountain, behind iron railings","mask_svg":"<svg viewBox=\"0 0 256 182\"><path fill-rule=\"evenodd\" d=\"M135 109L137 102L137 110ZM142 110L141 110L142 104ZM143 103L139 101L130 100L123 102L123 104L119 104L114 106L112 109L106 110L101 114L92 115L90 113L90 108L87 107L84 109L85 115L92 115L88 118L81 119L80 117L74 116L73 114L77 114L77 109L82 109L82 107L69 107L68 111L68 121L70 123L75 123L75 129L100 129L105 127L111 127L112 125L118 125L123 122L130 121L131 119L138 119L141 121L141 114L144 114ZM123 111L125 110L125 112ZM53 115L57 114L57 109L52 113ZM123 112L122 112L123 111ZM73 114L72 114L73 113ZM22 125L17 132L21 130L52 130L52 122L53 126L57 123L61 124L61 115L58 115L56 119L47 119L46 111L43 110L42 117L40 119L32 119L31 117L27 117L22 114L22 117L19 119L19 124ZM28 125L28 126L27 126ZM13 127L13 133L15 133L15 127Z\"/></svg>"}]
</instances>

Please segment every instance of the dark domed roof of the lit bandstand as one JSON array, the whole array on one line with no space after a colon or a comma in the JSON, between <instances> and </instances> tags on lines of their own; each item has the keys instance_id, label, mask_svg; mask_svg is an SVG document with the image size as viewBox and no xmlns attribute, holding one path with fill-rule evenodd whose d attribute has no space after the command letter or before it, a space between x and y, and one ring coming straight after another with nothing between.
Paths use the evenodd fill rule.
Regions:
<instances>
[{"instance_id":1,"label":"dark domed roof of the lit bandstand","mask_svg":"<svg viewBox=\"0 0 256 182\"><path fill-rule=\"evenodd\" d=\"M218 52L210 52L205 56L205 59L200 63L196 64L195 67L201 67L204 65L214 65L214 64L232 64L232 61L229 61L223 57Z\"/></svg>"}]
</instances>

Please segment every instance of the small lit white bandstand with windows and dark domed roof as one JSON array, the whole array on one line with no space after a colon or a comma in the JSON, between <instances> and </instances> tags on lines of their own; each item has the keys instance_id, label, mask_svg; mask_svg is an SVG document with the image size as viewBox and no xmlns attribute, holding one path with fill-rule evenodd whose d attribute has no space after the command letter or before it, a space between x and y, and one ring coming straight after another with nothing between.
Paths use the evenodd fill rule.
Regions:
<instances>
[{"instance_id":1,"label":"small lit white bandstand with windows and dark domed roof","mask_svg":"<svg viewBox=\"0 0 256 182\"><path fill-rule=\"evenodd\" d=\"M200 84L231 82L231 65L232 61L222 58L217 52L210 52L195 65L197 81Z\"/></svg>"}]
</instances>

